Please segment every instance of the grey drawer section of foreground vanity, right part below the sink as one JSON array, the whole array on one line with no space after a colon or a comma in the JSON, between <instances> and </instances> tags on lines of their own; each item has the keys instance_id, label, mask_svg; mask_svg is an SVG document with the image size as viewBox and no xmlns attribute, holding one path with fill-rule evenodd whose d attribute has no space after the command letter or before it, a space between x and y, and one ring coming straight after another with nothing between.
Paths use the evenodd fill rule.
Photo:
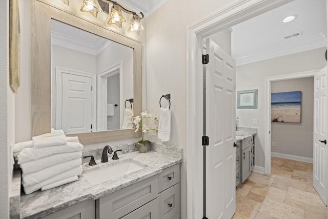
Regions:
<instances>
[{"instance_id":1,"label":"grey drawer section of foreground vanity, right part below the sink","mask_svg":"<svg viewBox=\"0 0 328 219\"><path fill-rule=\"evenodd\" d=\"M179 218L179 164L96 201L99 218Z\"/></svg>"}]
</instances>

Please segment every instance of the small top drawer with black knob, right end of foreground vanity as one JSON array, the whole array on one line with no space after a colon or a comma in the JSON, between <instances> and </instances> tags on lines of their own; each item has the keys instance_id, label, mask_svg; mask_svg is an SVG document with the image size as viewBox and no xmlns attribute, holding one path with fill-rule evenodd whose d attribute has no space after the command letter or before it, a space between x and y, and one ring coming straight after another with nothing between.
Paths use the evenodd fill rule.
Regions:
<instances>
[{"instance_id":1,"label":"small top drawer with black knob, right end of foreground vanity","mask_svg":"<svg viewBox=\"0 0 328 219\"><path fill-rule=\"evenodd\" d=\"M180 182L180 164L166 168L158 175L158 192Z\"/></svg>"}]
</instances>

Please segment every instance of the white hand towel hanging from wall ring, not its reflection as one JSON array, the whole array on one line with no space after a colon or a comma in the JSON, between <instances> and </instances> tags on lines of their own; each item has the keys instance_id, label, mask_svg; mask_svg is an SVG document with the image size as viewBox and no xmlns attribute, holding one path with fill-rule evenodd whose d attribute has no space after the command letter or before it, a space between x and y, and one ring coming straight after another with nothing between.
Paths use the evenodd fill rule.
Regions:
<instances>
[{"instance_id":1,"label":"white hand towel hanging from wall ring, not its reflection","mask_svg":"<svg viewBox=\"0 0 328 219\"><path fill-rule=\"evenodd\" d=\"M160 108L160 118L159 118L157 136L162 142L170 141L171 111L169 108Z\"/></svg>"}]
</instances>

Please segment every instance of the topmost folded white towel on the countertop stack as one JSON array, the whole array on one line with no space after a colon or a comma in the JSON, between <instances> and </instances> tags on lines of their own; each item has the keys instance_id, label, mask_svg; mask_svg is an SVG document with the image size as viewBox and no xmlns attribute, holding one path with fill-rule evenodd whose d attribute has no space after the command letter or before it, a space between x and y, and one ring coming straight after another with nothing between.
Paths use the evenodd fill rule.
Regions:
<instances>
[{"instance_id":1,"label":"topmost folded white towel on the countertop stack","mask_svg":"<svg viewBox=\"0 0 328 219\"><path fill-rule=\"evenodd\" d=\"M46 133L34 136L32 140L35 148L64 145L67 143L66 135L60 133Z\"/></svg>"}]
</instances>

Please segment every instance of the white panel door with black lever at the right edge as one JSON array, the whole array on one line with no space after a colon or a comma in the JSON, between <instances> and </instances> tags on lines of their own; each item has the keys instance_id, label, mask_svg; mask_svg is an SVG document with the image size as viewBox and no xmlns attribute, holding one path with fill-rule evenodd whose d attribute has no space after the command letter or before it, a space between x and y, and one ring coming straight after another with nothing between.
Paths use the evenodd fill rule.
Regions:
<instances>
[{"instance_id":1,"label":"white panel door with black lever at the right edge","mask_svg":"<svg viewBox=\"0 0 328 219\"><path fill-rule=\"evenodd\" d=\"M327 67L314 75L313 187L327 204Z\"/></svg>"}]
</instances>

